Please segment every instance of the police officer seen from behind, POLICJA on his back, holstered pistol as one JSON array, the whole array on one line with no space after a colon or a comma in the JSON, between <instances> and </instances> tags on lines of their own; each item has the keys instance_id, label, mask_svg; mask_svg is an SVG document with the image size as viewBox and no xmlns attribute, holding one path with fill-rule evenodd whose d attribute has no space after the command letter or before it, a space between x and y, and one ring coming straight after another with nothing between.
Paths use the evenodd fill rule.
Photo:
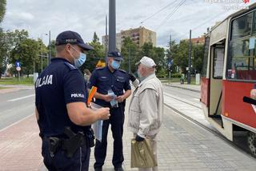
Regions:
<instances>
[{"instance_id":1,"label":"police officer seen from behind, POLICJA on his back, holstered pistol","mask_svg":"<svg viewBox=\"0 0 256 171\"><path fill-rule=\"evenodd\" d=\"M94 134L90 124L110 117L110 109L86 106L86 83L79 66L92 50L81 36L64 31L56 38L56 58L35 82L35 113L42 137L42 157L49 170L88 170Z\"/></svg>"}]
</instances>

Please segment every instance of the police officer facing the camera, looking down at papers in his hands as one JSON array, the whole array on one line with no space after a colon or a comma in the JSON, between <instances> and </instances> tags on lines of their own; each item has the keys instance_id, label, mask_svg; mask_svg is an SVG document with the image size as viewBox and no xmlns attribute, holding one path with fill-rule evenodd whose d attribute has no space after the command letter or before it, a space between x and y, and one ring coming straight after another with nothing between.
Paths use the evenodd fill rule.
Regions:
<instances>
[{"instance_id":1,"label":"police officer facing the camera, looking down at papers in his hands","mask_svg":"<svg viewBox=\"0 0 256 171\"><path fill-rule=\"evenodd\" d=\"M96 160L94 163L95 170L102 170L102 165L104 165L107 133L110 124L114 138L112 163L115 170L123 170L122 133L125 119L125 99L130 96L131 90L129 75L126 74L126 71L119 70L122 59L122 55L117 51L108 53L107 65L94 70L88 82L89 88L92 86L98 87L97 93L94 95L96 98L95 102L98 105L110 107L111 114L109 120L103 121L102 141L96 140L94 149L94 157Z\"/></svg>"}]
</instances>

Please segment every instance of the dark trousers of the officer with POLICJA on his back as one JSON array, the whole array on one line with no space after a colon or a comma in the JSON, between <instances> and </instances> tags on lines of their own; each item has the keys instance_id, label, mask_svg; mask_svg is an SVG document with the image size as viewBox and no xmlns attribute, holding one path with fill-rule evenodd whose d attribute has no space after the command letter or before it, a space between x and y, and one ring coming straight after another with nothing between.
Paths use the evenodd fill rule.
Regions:
<instances>
[{"instance_id":1,"label":"dark trousers of the officer with POLICJA on his back","mask_svg":"<svg viewBox=\"0 0 256 171\"><path fill-rule=\"evenodd\" d=\"M88 171L90 163L90 147L83 145L75 153L74 156L66 157L63 149L58 149L54 157L50 157L49 141L42 141L42 157L46 168L50 171L65 170L65 171Z\"/></svg>"}]
</instances>

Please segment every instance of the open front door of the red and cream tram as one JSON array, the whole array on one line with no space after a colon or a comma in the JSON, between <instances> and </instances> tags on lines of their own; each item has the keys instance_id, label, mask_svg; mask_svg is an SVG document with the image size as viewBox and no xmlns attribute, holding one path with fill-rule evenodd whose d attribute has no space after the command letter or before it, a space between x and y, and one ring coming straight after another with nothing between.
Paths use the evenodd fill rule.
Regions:
<instances>
[{"instance_id":1,"label":"open front door of the red and cream tram","mask_svg":"<svg viewBox=\"0 0 256 171\"><path fill-rule=\"evenodd\" d=\"M222 125L222 75L224 68L225 41L210 48L210 104L209 117Z\"/></svg>"}]
</instances>

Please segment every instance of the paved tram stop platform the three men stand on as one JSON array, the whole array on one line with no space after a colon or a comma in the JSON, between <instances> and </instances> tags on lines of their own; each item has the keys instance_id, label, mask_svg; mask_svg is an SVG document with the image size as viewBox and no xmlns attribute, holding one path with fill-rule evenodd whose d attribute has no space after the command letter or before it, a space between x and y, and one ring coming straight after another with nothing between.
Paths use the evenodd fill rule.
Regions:
<instances>
[{"instance_id":1,"label":"paved tram stop platform the three men stand on","mask_svg":"<svg viewBox=\"0 0 256 171\"><path fill-rule=\"evenodd\" d=\"M126 104L129 104L129 100ZM171 105L171 104L170 104ZM128 105L126 105L128 106ZM126 109L126 119L127 119ZM123 169L130 168L130 139L132 133L124 125ZM0 170L46 170L42 163L41 141L34 115L0 130ZM103 170L114 170L112 161L113 139L108 135L106 163ZM93 171L94 149L90 155L90 170ZM158 170L256 170L256 158L229 145L222 138L194 122L164 108L162 128L158 134Z\"/></svg>"}]
</instances>

